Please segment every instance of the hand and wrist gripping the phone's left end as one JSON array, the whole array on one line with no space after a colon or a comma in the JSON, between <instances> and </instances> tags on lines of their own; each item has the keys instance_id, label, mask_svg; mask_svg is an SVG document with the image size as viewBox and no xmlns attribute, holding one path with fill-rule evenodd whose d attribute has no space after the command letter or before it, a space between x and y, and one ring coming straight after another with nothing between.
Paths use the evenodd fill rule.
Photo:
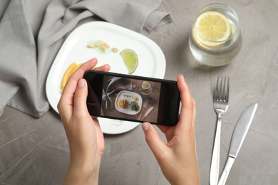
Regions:
<instances>
[{"instance_id":1,"label":"hand and wrist gripping the phone's left end","mask_svg":"<svg viewBox=\"0 0 278 185\"><path fill-rule=\"evenodd\" d=\"M63 127L71 151L71 162L64 184L98 184L104 139L96 118L88 113L86 99L88 87L83 75L97 64L96 58L83 63L71 75L58 102ZM109 65L94 70L107 72Z\"/></svg>"}]
</instances>

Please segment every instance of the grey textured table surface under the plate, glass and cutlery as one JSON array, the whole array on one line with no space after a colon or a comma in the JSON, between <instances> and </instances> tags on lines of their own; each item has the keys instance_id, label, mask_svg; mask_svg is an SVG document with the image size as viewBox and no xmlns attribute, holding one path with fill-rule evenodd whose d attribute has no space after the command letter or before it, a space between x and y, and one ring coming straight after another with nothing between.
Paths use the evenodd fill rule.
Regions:
<instances>
[{"instance_id":1,"label":"grey textured table surface under the plate, glass and cutlery","mask_svg":"<svg viewBox=\"0 0 278 185\"><path fill-rule=\"evenodd\" d=\"M258 103L227 184L277 184L278 1L220 1L237 11L243 45L232 63L210 68L193 58L188 36L197 11L215 2L163 1L159 9L170 12L173 23L155 28L148 37L165 54L165 78L175 80L178 74L185 75L197 102L201 184L209 184L216 127L212 90L218 75L230 76L230 108L222 121L220 171L237 119L249 104ZM163 134L161 137L165 139ZM68 168L69 148L58 114L49 110L34 119L6 107L0 117L0 157L0 184L61 184ZM124 134L105 134L99 184L169 184L140 126Z\"/></svg>"}]
</instances>

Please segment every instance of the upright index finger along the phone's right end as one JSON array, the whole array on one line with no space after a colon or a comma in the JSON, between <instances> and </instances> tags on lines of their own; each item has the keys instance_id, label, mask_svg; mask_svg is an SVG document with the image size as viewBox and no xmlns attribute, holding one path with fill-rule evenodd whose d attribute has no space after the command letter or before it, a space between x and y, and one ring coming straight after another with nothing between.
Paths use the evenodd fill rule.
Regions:
<instances>
[{"instance_id":1,"label":"upright index finger along the phone's right end","mask_svg":"<svg viewBox=\"0 0 278 185\"><path fill-rule=\"evenodd\" d=\"M185 83L185 78L183 75L179 75L177 78L177 86L180 90L180 100L182 102L182 107L180 110L180 120L182 124L180 127L191 127L195 116L195 102L191 96L190 90ZM179 129L177 129L179 130Z\"/></svg>"}]
</instances>

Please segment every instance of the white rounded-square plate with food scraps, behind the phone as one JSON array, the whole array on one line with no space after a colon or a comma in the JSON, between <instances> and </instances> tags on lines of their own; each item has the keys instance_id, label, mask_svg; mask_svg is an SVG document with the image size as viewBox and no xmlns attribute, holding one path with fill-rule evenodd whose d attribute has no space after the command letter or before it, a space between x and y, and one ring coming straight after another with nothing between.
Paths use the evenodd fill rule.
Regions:
<instances>
[{"instance_id":1,"label":"white rounded-square plate with food scraps, behind the phone","mask_svg":"<svg viewBox=\"0 0 278 185\"><path fill-rule=\"evenodd\" d=\"M118 48L118 53L101 52L88 48L90 42L103 41L110 48ZM113 23L94 21L76 28L61 46L46 80L46 95L53 110L58 112L57 104L61 97L61 81L71 63L84 63L91 58L98 59L98 66L108 63L110 72L128 74L120 51L129 48L138 55L138 67L132 75L164 78L166 62L163 51L149 38ZM140 123L110 120L99 117L101 129L105 134L121 134L134 129Z\"/></svg>"}]
</instances>

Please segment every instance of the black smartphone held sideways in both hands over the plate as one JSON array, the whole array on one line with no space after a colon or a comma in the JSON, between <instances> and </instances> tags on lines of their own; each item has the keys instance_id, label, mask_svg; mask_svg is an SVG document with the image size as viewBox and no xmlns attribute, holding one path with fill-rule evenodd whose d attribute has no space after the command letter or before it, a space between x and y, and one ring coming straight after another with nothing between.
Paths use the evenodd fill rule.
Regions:
<instances>
[{"instance_id":1,"label":"black smartphone held sideways in both hands over the plate","mask_svg":"<svg viewBox=\"0 0 278 185\"><path fill-rule=\"evenodd\" d=\"M174 80L88 70L87 107L90 115L155 125L174 126L180 91Z\"/></svg>"}]
</instances>

